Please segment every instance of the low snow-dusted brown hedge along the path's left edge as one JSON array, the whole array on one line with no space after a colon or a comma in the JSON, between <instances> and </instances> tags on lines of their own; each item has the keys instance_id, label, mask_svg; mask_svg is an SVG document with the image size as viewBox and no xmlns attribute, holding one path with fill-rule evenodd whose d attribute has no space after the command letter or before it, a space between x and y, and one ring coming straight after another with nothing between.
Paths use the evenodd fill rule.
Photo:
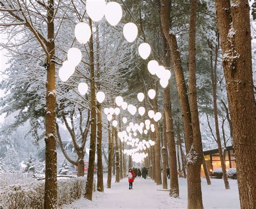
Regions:
<instances>
[{"instance_id":1,"label":"low snow-dusted brown hedge along the path's left edge","mask_svg":"<svg viewBox=\"0 0 256 209\"><path fill-rule=\"evenodd\" d=\"M85 184L85 177L58 179L58 206L84 196ZM95 187L94 181L94 191ZM0 208L43 208L44 180L25 177L22 173L6 173L0 176L0 188Z\"/></svg>"}]
</instances>

